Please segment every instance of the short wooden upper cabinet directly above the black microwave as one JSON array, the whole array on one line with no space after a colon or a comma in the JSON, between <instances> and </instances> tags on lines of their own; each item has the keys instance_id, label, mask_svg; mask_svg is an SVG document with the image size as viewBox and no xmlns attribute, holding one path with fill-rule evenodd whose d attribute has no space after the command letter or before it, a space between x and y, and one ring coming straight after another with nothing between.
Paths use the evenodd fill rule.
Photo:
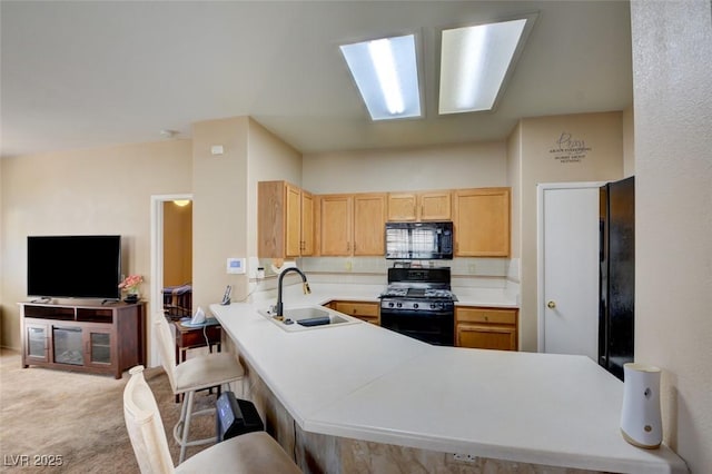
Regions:
<instances>
[{"instance_id":1,"label":"short wooden upper cabinet directly above the black microwave","mask_svg":"<svg viewBox=\"0 0 712 474\"><path fill-rule=\"evenodd\" d=\"M389 221L451 219L451 191L388 194Z\"/></svg>"}]
</instances>

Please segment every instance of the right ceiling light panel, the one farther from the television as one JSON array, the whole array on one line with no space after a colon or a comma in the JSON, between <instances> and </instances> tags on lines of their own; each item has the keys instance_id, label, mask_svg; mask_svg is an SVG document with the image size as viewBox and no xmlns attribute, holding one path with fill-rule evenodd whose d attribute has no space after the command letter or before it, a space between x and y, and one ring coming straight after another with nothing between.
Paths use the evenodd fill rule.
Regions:
<instances>
[{"instance_id":1,"label":"right ceiling light panel, the one farther from the television","mask_svg":"<svg viewBox=\"0 0 712 474\"><path fill-rule=\"evenodd\" d=\"M527 21L443 30L439 113L494 108Z\"/></svg>"}]
</instances>

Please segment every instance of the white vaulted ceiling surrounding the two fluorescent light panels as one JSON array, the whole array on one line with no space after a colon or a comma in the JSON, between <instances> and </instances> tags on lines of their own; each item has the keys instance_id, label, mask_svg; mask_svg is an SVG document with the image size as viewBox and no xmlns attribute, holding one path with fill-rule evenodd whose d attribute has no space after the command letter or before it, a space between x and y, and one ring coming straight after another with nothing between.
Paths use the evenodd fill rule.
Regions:
<instances>
[{"instance_id":1,"label":"white vaulted ceiling surrounding the two fluorescent light panels","mask_svg":"<svg viewBox=\"0 0 712 474\"><path fill-rule=\"evenodd\" d=\"M439 31L537 13L497 107L437 115ZM633 100L627 1L0 2L1 155L251 116L301 152L504 139ZM374 122L339 45L414 32L423 118Z\"/></svg>"}]
</instances>

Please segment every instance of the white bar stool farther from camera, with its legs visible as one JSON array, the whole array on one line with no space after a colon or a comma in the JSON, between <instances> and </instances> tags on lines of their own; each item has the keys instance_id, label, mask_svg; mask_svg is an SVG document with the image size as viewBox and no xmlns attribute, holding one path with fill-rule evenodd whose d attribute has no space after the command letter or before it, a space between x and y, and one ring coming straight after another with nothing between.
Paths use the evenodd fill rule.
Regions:
<instances>
[{"instance_id":1,"label":"white bar stool farther from camera, with its legs visible","mask_svg":"<svg viewBox=\"0 0 712 474\"><path fill-rule=\"evenodd\" d=\"M176 364L174 337L165 317L158 317L155 323L155 329L156 339L160 348L161 364L168 375L170 388L174 395L184 395L180 419L174 427L174 438L180 445L180 457L178 460L180 464L186 457L186 447L217 441L216 436L188 441L191 417L215 413L215 407L197 412L192 411L196 392L224 385L229 388L229 383L243 381L245 371L235 358L235 355L230 353L202 354ZM244 392L244 387L241 387L241 391Z\"/></svg>"}]
</instances>

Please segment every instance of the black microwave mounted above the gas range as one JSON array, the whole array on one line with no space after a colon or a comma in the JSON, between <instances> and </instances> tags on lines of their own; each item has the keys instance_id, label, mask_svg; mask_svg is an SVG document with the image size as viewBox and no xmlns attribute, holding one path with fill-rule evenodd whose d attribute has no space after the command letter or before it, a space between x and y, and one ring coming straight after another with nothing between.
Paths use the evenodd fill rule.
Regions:
<instances>
[{"instance_id":1,"label":"black microwave mounted above the gas range","mask_svg":"<svg viewBox=\"0 0 712 474\"><path fill-rule=\"evenodd\" d=\"M389 260L452 260L453 223L386 223Z\"/></svg>"}]
</instances>

